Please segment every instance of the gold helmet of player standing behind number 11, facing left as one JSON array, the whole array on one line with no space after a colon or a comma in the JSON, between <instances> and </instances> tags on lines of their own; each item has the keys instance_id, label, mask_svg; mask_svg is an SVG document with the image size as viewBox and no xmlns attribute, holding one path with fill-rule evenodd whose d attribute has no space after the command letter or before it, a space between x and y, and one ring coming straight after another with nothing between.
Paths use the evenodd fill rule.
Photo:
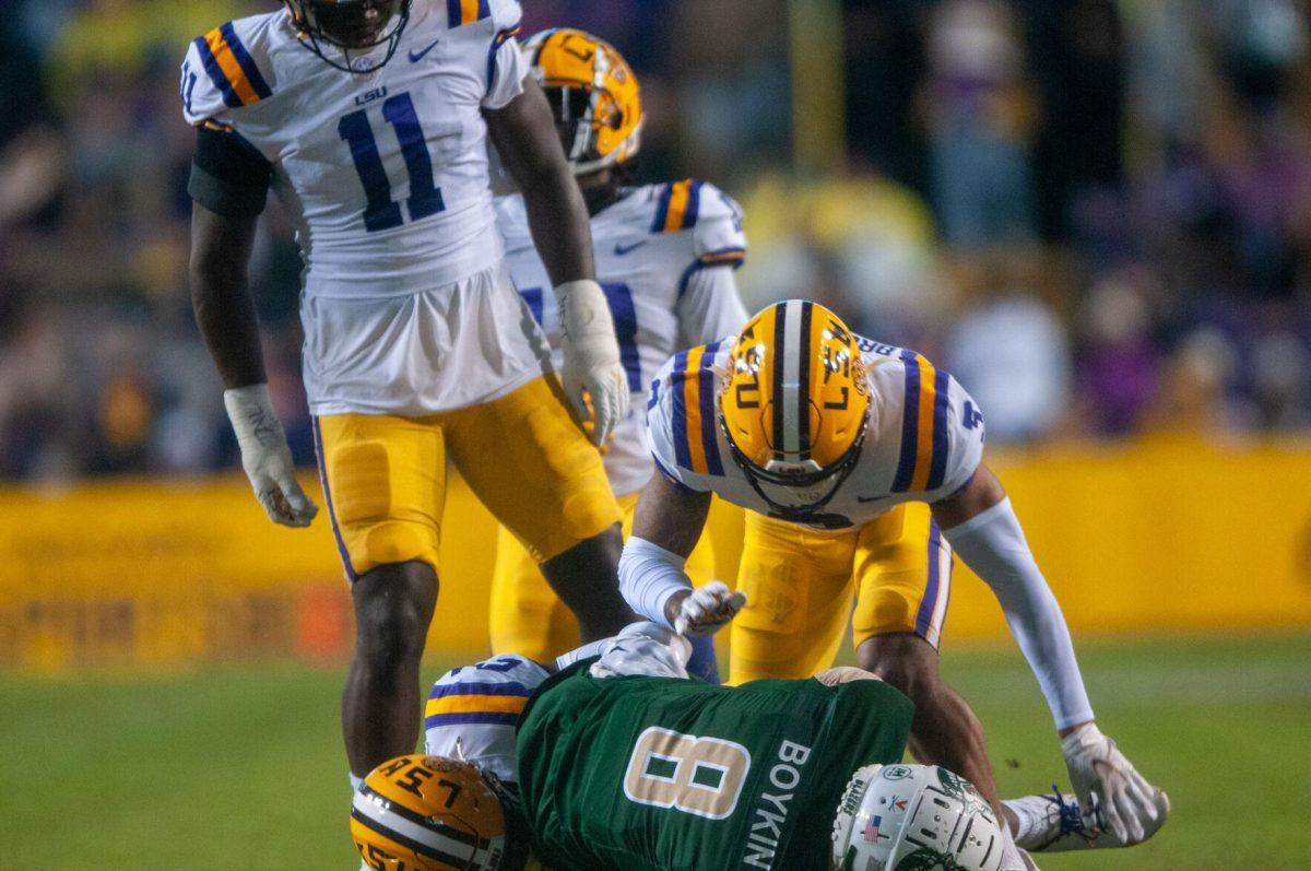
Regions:
<instances>
[{"instance_id":1,"label":"gold helmet of player standing behind number 11, facing left","mask_svg":"<svg viewBox=\"0 0 1311 871\"><path fill-rule=\"evenodd\" d=\"M543 30L523 54L547 92L574 173L621 164L641 147L642 101L628 62L583 30Z\"/></svg>"}]
</instances>

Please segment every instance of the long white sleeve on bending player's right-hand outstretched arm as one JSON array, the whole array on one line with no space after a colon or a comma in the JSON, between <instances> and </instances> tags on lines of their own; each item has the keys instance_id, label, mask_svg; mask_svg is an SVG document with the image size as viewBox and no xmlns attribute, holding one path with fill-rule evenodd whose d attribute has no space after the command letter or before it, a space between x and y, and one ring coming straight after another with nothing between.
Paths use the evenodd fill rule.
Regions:
<instances>
[{"instance_id":1,"label":"long white sleeve on bending player's right-hand outstretched arm","mask_svg":"<svg viewBox=\"0 0 1311 871\"><path fill-rule=\"evenodd\" d=\"M943 535L996 594L1057 728L1091 720L1092 704L1075 661L1070 628L1029 552L1011 500L1002 500Z\"/></svg>"}]
</instances>

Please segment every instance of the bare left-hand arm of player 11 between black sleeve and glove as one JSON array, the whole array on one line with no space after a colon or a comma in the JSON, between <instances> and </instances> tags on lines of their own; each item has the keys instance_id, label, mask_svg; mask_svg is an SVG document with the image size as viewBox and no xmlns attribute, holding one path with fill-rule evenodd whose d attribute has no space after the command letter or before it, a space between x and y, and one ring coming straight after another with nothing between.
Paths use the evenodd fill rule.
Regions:
<instances>
[{"instance_id":1,"label":"bare left-hand arm of player 11 between black sleeve and glove","mask_svg":"<svg viewBox=\"0 0 1311 871\"><path fill-rule=\"evenodd\" d=\"M191 203L191 308L225 388L261 384L264 357L246 264L256 218L224 218Z\"/></svg>"}]
</instances>

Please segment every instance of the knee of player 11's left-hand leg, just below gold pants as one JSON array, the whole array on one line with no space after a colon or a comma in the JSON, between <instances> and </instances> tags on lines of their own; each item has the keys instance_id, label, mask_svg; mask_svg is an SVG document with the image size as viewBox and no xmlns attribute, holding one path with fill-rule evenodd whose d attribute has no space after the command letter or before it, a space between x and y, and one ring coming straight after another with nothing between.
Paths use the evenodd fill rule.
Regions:
<instances>
[{"instance_id":1,"label":"knee of player 11's left-hand leg, just below gold pants","mask_svg":"<svg viewBox=\"0 0 1311 871\"><path fill-rule=\"evenodd\" d=\"M355 582L357 656L366 668L418 662L437 603L437 576L421 563L380 565Z\"/></svg>"}]
</instances>

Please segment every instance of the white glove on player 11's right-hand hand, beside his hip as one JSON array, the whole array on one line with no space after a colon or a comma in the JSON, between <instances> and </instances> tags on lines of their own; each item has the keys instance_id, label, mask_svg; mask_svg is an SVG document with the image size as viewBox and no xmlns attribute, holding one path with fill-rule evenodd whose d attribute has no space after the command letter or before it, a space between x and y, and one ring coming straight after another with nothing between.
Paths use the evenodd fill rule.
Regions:
<instances>
[{"instance_id":1,"label":"white glove on player 11's right-hand hand, beside his hip","mask_svg":"<svg viewBox=\"0 0 1311 871\"><path fill-rule=\"evenodd\" d=\"M560 371L565 395L578 420L593 420L593 443L604 445L628 413L629 399L610 304L600 285L590 279L560 285L556 302L560 306L560 345L565 353ZM585 391L591 396L590 411Z\"/></svg>"}]
</instances>

